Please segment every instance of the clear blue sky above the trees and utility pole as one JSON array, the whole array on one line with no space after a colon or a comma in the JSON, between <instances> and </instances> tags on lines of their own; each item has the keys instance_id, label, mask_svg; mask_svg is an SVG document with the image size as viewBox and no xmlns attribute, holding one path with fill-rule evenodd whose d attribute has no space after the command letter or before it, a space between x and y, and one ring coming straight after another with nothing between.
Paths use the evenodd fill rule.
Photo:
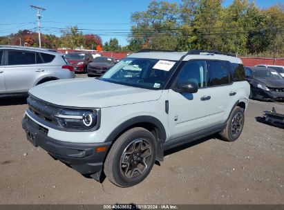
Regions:
<instances>
[{"instance_id":1,"label":"clear blue sky above the trees and utility pole","mask_svg":"<svg viewBox=\"0 0 284 210\"><path fill-rule=\"evenodd\" d=\"M117 38L120 45L127 44L126 32L131 28L131 13L144 11L151 0L8 0L1 1L0 36L18 30L37 31L37 10L30 5L45 8L41 12L41 32L60 36L59 28L75 26L84 34L97 34L103 43ZM168 0L181 2L181 0ZM229 6L233 0L224 0ZM268 8L281 0L255 0L259 8Z\"/></svg>"}]
</instances>

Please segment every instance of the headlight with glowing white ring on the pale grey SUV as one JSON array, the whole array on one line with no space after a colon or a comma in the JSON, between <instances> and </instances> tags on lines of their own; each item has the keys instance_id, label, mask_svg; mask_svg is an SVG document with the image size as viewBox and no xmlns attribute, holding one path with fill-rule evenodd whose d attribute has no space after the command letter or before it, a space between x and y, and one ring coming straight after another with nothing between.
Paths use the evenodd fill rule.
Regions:
<instances>
[{"instance_id":1,"label":"headlight with glowing white ring on the pale grey SUV","mask_svg":"<svg viewBox=\"0 0 284 210\"><path fill-rule=\"evenodd\" d=\"M97 126L97 113L92 110L63 109L55 117L64 128L90 130Z\"/></svg>"}]
</instances>

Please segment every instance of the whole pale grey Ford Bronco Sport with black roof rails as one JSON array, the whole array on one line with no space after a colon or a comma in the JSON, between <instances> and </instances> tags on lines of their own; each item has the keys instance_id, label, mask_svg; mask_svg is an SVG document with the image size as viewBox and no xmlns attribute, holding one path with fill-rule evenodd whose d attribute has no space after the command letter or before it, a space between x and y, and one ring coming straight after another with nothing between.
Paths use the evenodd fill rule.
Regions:
<instances>
[{"instance_id":1,"label":"whole pale grey Ford Bronco Sport with black roof rails","mask_svg":"<svg viewBox=\"0 0 284 210\"><path fill-rule=\"evenodd\" d=\"M23 128L55 159L120 187L138 184L164 150L243 130L243 64L218 51L142 50L100 79L47 82L29 91Z\"/></svg>"}]
</instances>

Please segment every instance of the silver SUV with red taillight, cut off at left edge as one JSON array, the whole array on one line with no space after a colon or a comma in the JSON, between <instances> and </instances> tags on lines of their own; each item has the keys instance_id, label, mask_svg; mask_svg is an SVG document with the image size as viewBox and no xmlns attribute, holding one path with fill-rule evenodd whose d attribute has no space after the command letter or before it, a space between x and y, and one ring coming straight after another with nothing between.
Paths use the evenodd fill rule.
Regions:
<instances>
[{"instance_id":1,"label":"silver SUV with red taillight, cut off at left edge","mask_svg":"<svg viewBox=\"0 0 284 210\"><path fill-rule=\"evenodd\" d=\"M71 68L55 50L0 46L0 97L24 95L38 84L74 78Z\"/></svg>"}]
</instances>

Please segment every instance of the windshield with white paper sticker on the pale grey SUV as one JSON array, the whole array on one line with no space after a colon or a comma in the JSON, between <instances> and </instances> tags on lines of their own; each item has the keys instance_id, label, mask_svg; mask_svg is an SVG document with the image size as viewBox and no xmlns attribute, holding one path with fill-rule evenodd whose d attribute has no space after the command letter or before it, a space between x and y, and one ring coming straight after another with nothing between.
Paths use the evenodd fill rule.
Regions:
<instances>
[{"instance_id":1,"label":"windshield with white paper sticker on the pale grey SUV","mask_svg":"<svg viewBox=\"0 0 284 210\"><path fill-rule=\"evenodd\" d=\"M108 70L100 79L138 88L164 88L178 62L158 59L125 58Z\"/></svg>"}]
</instances>

